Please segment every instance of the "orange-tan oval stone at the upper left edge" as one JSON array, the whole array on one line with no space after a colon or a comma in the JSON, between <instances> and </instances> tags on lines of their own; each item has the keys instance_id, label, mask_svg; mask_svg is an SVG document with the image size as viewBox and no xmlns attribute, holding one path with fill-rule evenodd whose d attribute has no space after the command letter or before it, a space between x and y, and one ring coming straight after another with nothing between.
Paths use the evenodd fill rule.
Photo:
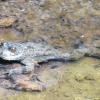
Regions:
<instances>
[{"instance_id":1,"label":"orange-tan oval stone at the upper left edge","mask_svg":"<svg viewBox=\"0 0 100 100\"><path fill-rule=\"evenodd\" d=\"M13 17L6 17L0 19L0 27L9 27L16 21Z\"/></svg>"}]
</instances>

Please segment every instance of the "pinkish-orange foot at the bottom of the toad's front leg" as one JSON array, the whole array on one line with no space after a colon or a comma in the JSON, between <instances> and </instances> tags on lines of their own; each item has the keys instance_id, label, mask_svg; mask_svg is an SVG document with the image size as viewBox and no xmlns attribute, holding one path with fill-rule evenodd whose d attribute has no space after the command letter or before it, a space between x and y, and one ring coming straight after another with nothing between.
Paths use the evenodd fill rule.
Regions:
<instances>
[{"instance_id":1,"label":"pinkish-orange foot at the bottom of the toad's front leg","mask_svg":"<svg viewBox=\"0 0 100 100\"><path fill-rule=\"evenodd\" d=\"M13 85L8 86L8 88L19 91L43 91L45 90L45 85L37 80L30 81L30 78L26 75L16 75Z\"/></svg>"}]
</instances>

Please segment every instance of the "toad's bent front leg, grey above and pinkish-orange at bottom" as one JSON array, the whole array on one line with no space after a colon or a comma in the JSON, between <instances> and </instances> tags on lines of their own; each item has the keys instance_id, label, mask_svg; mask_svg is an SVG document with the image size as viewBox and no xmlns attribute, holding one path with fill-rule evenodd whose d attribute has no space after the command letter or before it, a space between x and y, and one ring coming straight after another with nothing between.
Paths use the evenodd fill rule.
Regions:
<instances>
[{"instance_id":1,"label":"toad's bent front leg, grey above and pinkish-orange at bottom","mask_svg":"<svg viewBox=\"0 0 100 100\"><path fill-rule=\"evenodd\" d=\"M9 78L12 80L13 85L9 88L17 90L42 91L44 89L44 84L37 81L31 82L30 77L27 77L27 74L34 74L34 66L37 65L37 62L25 59L22 61L22 63L23 66L10 70ZM23 77L23 75L25 77Z\"/></svg>"}]
</instances>

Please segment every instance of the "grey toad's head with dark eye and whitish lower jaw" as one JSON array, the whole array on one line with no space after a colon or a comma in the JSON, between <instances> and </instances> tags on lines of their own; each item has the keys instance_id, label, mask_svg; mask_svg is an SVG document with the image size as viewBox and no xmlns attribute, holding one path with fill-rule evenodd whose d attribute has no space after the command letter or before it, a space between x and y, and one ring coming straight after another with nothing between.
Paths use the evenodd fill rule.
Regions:
<instances>
[{"instance_id":1,"label":"grey toad's head with dark eye and whitish lower jaw","mask_svg":"<svg viewBox=\"0 0 100 100\"><path fill-rule=\"evenodd\" d=\"M4 60L20 60L23 58L24 47L20 43L5 42L0 44L0 58Z\"/></svg>"}]
</instances>

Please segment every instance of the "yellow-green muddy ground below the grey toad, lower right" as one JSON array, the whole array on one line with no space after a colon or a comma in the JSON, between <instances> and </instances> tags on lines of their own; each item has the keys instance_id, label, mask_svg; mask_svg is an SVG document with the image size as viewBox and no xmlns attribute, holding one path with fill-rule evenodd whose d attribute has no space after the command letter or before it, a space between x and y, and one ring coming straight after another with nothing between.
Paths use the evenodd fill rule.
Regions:
<instances>
[{"instance_id":1,"label":"yellow-green muddy ground below the grey toad, lower right","mask_svg":"<svg viewBox=\"0 0 100 100\"><path fill-rule=\"evenodd\" d=\"M58 85L41 93L22 92L8 100L100 100L100 61L84 58L64 64Z\"/></svg>"}]
</instances>

